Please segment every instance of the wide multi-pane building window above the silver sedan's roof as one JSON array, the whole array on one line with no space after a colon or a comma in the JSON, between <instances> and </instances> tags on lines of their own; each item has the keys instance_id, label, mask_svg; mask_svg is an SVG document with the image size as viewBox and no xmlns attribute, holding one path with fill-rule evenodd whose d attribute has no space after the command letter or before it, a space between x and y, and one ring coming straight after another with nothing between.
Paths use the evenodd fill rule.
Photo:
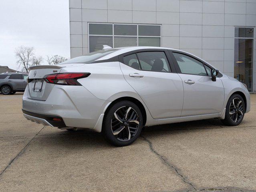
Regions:
<instances>
[{"instance_id":1,"label":"wide multi-pane building window above the silver sedan's roof","mask_svg":"<svg viewBox=\"0 0 256 192\"><path fill-rule=\"evenodd\" d=\"M161 25L88 23L89 52L115 47L161 46Z\"/></svg>"}]
</instances>

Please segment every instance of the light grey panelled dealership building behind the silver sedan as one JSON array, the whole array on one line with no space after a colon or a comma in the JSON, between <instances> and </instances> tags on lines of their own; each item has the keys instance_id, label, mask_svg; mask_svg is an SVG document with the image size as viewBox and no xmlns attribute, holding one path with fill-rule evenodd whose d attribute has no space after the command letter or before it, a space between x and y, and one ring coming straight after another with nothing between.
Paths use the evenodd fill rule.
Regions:
<instances>
[{"instance_id":1,"label":"light grey panelled dealership building behind the silver sedan","mask_svg":"<svg viewBox=\"0 0 256 192\"><path fill-rule=\"evenodd\" d=\"M256 0L69 0L71 58L103 45L190 52L256 92Z\"/></svg>"}]
</instances>

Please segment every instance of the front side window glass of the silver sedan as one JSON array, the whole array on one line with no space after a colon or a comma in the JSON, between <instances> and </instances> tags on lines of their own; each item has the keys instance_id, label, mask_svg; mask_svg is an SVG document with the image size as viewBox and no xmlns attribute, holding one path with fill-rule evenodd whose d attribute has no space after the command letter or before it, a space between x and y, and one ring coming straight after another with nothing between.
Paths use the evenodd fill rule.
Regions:
<instances>
[{"instance_id":1,"label":"front side window glass of the silver sedan","mask_svg":"<svg viewBox=\"0 0 256 192\"><path fill-rule=\"evenodd\" d=\"M173 53L181 73L208 76L204 64L190 56Z\"/></svg>"}]
</instances>

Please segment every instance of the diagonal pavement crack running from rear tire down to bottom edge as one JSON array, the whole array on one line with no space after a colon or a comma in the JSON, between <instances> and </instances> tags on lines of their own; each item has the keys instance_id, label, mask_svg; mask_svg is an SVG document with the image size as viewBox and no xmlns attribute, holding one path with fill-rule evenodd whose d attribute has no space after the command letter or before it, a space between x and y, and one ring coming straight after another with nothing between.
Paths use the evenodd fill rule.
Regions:
<instances>
[{"instance_id":1,"label":"diagonal pavement crack running from rear tire down to bottom edge","mask_svg":"<svg viewBox=\"0 0 256 192\"><path fill-rule=\"evenodd\" d=\"M181 174L181 172L179 172L179 170L173 165L171 164L170 162L167 161L166 158L164 158L162 155L160 155L154 148L153 148L153 145L152 145L152 142L150 140L148 140L147 138L145 138L144 136L141 136L148 144L149 144L149 148L150 150L156 154L161 160L163 160L164 164L166 164L167 166L169 166L170 168L172 168L177 174L178 176L183 180L184 183L188 184L190 187L193 188L193 190L197 190L194 185L189 182L189 180L187 180L183 174Z\"/></svg>"}]
</instances>

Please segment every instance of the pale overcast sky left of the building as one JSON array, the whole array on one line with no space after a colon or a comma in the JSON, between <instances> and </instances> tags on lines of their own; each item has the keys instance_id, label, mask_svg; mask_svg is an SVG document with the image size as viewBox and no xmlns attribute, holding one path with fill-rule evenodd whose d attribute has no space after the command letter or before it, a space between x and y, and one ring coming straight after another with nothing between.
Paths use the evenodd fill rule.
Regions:
<instances>
[{"instance_id":1,"label":"pale overcast sky left of the building","mask_svg":"<svg viewBox=\"0 0 256 192\"><path fill-rule=\"evenodd\" d=\"M69 0L1 0L0 65L16 69L14 50L21 45L44 58L70 58L69 44Z\"/></svg>"}]
</instances>

